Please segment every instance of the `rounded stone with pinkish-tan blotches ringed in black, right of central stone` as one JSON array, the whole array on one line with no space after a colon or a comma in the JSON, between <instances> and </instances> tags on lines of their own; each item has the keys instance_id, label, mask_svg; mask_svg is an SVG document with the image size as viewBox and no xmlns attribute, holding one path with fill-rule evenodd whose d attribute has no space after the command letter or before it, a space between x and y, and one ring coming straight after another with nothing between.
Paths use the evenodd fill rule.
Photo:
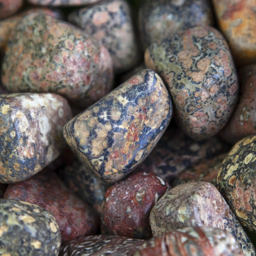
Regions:
<instances>
[{"instance_id":1,"label":"rounded stone with pinkish-tan blotches ringed in black, right of central stone","mask_svg":"<svg viewBox=\"0 0 256 256\"><path fill-rule=\"evenodd\" d=\"M151 44L145 64L167 85L177 122L188 136L209 138L228 122L238 78L228 45L215 28L194 27Z\"/></svg>"}]
</instances>

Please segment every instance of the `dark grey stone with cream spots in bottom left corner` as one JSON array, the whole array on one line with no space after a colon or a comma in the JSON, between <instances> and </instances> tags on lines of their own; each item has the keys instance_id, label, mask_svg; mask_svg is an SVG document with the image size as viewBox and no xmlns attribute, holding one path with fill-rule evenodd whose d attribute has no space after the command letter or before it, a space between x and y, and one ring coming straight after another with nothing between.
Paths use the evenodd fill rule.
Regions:
<instances>
[{"instance_id":1,"label":"dark grey stone with cream spots in bottom left corner","mask_svg":"<svg viewBox=\"0 0 256 256\"><path fill-rule=\"evenodd\" d=\"M0 199L2 256L57 256L60 231L53 215L35 204Z\"/></svg>"}]
</instances>

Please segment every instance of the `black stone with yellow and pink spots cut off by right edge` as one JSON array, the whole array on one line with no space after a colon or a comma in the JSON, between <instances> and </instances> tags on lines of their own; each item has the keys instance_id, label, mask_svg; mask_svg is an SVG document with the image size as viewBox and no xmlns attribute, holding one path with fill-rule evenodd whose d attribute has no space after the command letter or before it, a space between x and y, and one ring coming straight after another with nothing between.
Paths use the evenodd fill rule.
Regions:
<instances>
[{"instance_id":1,"label":"black stone with yellow and pink spots cut off by right edge","mask_svg":"<svg viewBox=\"0 0 256 256\"><path fill-rule=\"evenodd\" d=\"M217 177L217 188L241 225L256 233L256 136L250 135L229 151Z\"/></svg>"}]
</instances>

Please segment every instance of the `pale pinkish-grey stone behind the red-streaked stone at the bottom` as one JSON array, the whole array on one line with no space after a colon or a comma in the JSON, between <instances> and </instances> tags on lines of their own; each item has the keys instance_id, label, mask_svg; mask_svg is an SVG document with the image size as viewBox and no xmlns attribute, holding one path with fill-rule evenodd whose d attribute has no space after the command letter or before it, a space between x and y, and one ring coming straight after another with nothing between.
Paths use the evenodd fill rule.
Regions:
<instances>
[{"instance_id":1,"label":"pale pinkish-grey stone behind the red-streaked stone at the bottom","mask_svg":"<svg viewBox=\"0 0 256 256\"><path fill-rule=\"evenodd\" d=\"M149 220L153 236L189 226L224 229L233 234L244 255L255 255L238 219L210 182L189 182L172 188L156 202Z\"/></svg>"}]
</instances>

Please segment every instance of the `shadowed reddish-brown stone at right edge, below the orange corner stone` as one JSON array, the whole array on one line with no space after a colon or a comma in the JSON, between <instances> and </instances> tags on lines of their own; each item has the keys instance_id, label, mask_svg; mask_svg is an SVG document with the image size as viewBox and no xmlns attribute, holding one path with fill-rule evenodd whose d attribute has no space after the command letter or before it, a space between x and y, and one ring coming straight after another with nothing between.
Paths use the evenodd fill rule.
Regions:
<instances>
[{"instance_id":1,"label":"shadowed reddish-brown stone at right edge, below the orange corner stone","mask_svg":"<svg viewBox=\"0 0 256 256\"><path fill-rule=\"evenodd\" d=\"M232 144L256 134L256 64L245 66L238 71L239 101L228 124L220 132L221 137Z\"/></svg>"}]
</instances>

